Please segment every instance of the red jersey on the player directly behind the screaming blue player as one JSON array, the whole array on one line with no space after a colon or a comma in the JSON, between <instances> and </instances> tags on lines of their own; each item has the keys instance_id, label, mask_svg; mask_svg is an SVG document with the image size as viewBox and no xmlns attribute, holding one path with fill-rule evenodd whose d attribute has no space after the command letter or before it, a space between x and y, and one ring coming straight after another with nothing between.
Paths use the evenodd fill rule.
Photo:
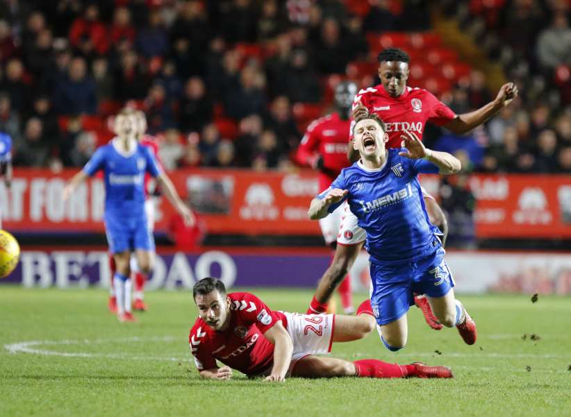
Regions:
<instances>
[{"instance_id":1,"label":"red jersey on the player directly behind the screaming blue player","mask_svg":"<svg viewBox=\"0 0 571 417\"><path fill-rule=\"evenodd\" d=\"M385 122L388 148L401 147L403 130L414 132L420 140L427 122L442 126L456 118L456 113L423 88L406 87L398 97L392 97L383 85L361 90L355 96L353 109L358 101ZM353 124L351 123L351 139Z\"/></svg>"}]
</instances>

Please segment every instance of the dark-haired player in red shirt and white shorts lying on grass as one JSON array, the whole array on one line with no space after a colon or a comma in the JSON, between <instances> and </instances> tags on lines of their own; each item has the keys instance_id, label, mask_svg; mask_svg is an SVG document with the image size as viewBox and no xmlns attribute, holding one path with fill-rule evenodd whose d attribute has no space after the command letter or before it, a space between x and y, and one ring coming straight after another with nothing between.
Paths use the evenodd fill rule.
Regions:
<instances>
[{"instance_id":1,"label":"dark-haired player in red shirt and white shorts lying on grass","mask_svg":"<svg viewBox=\"0 0 571 417\"><path fill-rule=\"evenodd\" d=\"M233 369L281 382L285 377L449 378L444 366L388 364L378 359L345 361L320 357L331 344L362 339L375 321L369 300L357 316L274 312L252 293L226 293L222 281L204 278L192 296L199 317L189 345L202 377L228 380ZM225 366L217 366L216 361Z\"/></svg>"}]
</instances>

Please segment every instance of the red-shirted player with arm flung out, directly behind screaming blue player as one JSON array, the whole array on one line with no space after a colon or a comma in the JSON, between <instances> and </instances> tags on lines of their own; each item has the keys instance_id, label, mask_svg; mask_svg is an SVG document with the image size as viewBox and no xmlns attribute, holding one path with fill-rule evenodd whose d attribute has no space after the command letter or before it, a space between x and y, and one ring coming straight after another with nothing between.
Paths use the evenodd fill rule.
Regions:
<instances>
[{"instance_id":1,"label":"red-shirted player with arm flung out, directly behind screaming blue player","mask_svg":"<svg viewBox=\"0 0 571 417\"><path fill-rule=\"evenodd\" d=\"M422 140L424 126L427 123L436 124L451 130L456 134L466 133L485 123L506 105L509 105L518 96L518 87L513 83L502 85L496 98L478 110L464 114L455 114L444 103L436 99L433 94L422 88L411 88L406 85L408 80L408 63L410 57L401 49L388 48L377 57L379 60L379 78L381 84L361 90L355 97L353 105L353 118L361 112L377 114L387 126L389 136L388 148L401 147L401 135L404 130L411 131ZM352 139L352 137L351 137ZM349 153L352 146L349 146ZM353 160L354 154L349 155ZM448 226L444 213L432 196L424 193L424 204L427 207L429 219L433 225L442 231L442 243L445 243ZM333 262L325 271L315 296L311 302L311 311L322 312L327 308L331 294L345 277L347 271L353 266L355 259L363 247L365 232L358 227L356 217L350 210L346 210L345 219L339 232L340 242ZM339 244L342 243L342 244ZM433 316L426 298L415 297L415 304L422 309L427 323L435 330L442 325ZM467 338L463 339L474 343L474 329L458 329ZM471 342L471 343L470 343Z\"/></svg>"}]
</instances>

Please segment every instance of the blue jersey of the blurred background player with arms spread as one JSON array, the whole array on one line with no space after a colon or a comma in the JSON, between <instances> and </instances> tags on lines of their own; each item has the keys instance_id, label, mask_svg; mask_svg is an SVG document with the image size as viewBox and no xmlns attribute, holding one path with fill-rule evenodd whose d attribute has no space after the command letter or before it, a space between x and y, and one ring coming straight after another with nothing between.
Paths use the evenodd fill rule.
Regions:
<instances>
[{"instance_id":1,"label":"blue jersey of the blurred background player with arms spread","mask_svg":"<svg viewBox=\"0 0 571 417\"><path fill-rule=\"evenodd\" d=\"M93 176L104 171L106 216L144 215L144 173L158 176L159 165L149 148L137 144L128 156L122 155L113 142L97 148L83 171Z\"/></svg>"}]
</instances>

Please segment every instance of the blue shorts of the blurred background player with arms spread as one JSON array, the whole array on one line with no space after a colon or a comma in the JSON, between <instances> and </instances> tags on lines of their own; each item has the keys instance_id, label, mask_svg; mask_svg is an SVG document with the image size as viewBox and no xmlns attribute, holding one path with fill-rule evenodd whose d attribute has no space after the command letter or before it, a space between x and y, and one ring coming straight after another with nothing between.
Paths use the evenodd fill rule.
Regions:
<instances>
[{"instance_id":1,"label":"blue shorts of the blurred background player with arms spread","mask_svg":"<svg viewBox=\"0 0 571 417\"><path fill-rule=\"evenodd\" d=\"M105 232L110 253L126 250L155 250L153 231L149 228L147 216L105 216Z\"/></svg>"}]
</instances>

